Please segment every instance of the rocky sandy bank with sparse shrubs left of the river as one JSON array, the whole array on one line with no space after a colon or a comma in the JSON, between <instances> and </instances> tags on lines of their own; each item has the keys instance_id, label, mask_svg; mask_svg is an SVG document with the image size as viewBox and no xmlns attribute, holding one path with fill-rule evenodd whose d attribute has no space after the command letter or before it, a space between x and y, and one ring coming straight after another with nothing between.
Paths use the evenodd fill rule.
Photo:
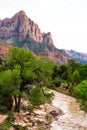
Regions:
<instances>
[{"instance_id":1,"label":"rocky sandy bank with sparse shrubs left of the river","mask_svg":"<svg viewBox=\"0 0 87 130\"><path fill-rule=\"evenodd\" d=\"M23 105L27 106L27 102L23 101ZM39 109L34 109L33 112L21 109L20 113L14 113L15 121L12 123L10 130L16 130L27 126L29 130L50 130L51 123L58 120L58 117L63 115L61 109L54 107L51 103L41 105ZM0 124L2 124L7 115L0 115ZM26 130L28 130L26 128ZM19 129L18 129L19 130ZM25 130L25 129L23 129Z\"/></svg>"}]
</instances>

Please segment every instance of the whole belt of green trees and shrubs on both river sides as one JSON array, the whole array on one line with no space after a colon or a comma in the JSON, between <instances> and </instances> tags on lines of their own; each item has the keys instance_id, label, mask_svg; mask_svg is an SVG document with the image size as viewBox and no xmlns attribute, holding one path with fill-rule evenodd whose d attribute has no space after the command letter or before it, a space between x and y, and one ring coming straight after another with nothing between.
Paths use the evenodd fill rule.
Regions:
<instances>
[{"instance_id":1,"label":"whole belt of green trees and shrubs on both river sides","mask_svg":"<svg viewBox=\"0 0 87 130\"><path fill-rule=\"evenodd\" d=\"M81 103L81 109L87 111L87 64L69 60L66 65L57 66L46 57L37 57L31 51L18 47L8 52L4 62L0 58L1 114L12 110L20 112L22 98L28 100L28 110L33 112L34 108L51 101L53 93L48 88L75 96ZM50 120L51 117L46 115L46 118ZM0 129L9 130L13 120L12 114L8 114Z\"/></svg>"}]
</instances>

